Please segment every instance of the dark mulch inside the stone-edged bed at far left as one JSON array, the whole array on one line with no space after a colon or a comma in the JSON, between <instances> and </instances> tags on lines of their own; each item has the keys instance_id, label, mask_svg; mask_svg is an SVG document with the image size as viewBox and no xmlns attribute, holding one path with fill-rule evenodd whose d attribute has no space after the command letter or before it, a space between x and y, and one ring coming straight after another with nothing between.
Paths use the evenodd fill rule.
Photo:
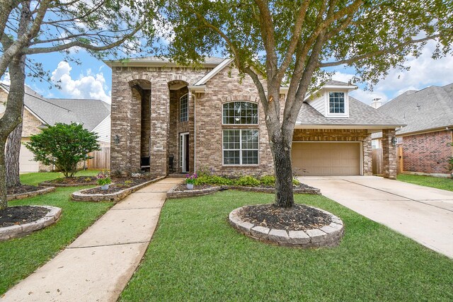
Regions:
<instances>
[{"instance_id":1,"label":"dark mulch inside the stone-edged bed at far left","mask_svg":"<svg viewBox=\"0 0 453 302\"><path fill-rule=\"evenodd\" d=\"M0 211L0 227L37 221L45 217L49 211L50 209L42 207L7 207L3 211Z\"/></svg>"}]
</instances>

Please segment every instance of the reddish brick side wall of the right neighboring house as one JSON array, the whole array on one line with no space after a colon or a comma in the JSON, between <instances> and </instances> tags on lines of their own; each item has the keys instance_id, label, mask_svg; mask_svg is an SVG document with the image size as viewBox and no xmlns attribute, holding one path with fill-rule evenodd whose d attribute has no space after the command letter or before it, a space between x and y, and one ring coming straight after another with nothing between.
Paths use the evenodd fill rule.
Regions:
<instances>
[{"instance_id":1,"label":"reddish brick side wall of the right neighboring house","mask_svg":"<svg viewBox=\"0 0 453 302\"><path fill-rule=\"evenodd\" d=\"M438 131L403 137L403 170L420 173L449 174L452 156L451 131Z\"/></svg>"}]
</instances>

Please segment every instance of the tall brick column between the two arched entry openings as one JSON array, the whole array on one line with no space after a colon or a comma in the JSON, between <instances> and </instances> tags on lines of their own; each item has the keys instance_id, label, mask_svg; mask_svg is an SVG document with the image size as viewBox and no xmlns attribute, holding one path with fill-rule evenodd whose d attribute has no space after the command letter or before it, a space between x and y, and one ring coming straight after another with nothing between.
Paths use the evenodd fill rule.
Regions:
<instances>
[{"instance_id":1,"label":"tall brick column between the two arched entry openings","mask_svg":"<svg viewBox=\"0 0 453 302\"><path fill-rule=\"evenodd\" d=\"M156 175L168 173L169 111L170 91L167 83L151 82L150 172Z\"/></svg>"}]
</instances>

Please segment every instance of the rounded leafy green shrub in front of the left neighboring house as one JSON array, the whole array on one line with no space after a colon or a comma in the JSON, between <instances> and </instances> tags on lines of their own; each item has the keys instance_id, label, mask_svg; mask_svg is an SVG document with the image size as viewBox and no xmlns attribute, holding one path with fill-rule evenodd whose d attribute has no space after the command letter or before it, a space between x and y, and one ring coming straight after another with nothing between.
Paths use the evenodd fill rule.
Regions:
<instances>
[{"instance_id":1,"label":"rounded leafy green shrub in front of the left neighboring house","mask_svg":"<svg viewBox=\"0 0 453 302\"><path fill-rule=\"evenodd\" d=\"M97 139L98 135L84 129L82 124L57 123L32 135L25 146L33 152L35 161L55 165L64 177L71 178L77 163L91 158L88 153L101 150Z\"/></svg>"}]
</instances>

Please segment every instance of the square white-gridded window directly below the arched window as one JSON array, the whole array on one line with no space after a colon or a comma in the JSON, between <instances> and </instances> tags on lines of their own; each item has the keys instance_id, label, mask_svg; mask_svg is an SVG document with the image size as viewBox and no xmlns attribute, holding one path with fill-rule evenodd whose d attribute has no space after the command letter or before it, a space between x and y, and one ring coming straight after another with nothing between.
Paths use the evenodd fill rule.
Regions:
<instances>
[{"instance_id":1,"label":"square white-gridded window directly below the arched window","mask_svg":"<svg viewBox=\"0 0 453 302\"><path fill-rule=\"evenodd\" d=\"M224 129L224 165L258 165L258 129Z\"/></svg>"}]
</instances>

